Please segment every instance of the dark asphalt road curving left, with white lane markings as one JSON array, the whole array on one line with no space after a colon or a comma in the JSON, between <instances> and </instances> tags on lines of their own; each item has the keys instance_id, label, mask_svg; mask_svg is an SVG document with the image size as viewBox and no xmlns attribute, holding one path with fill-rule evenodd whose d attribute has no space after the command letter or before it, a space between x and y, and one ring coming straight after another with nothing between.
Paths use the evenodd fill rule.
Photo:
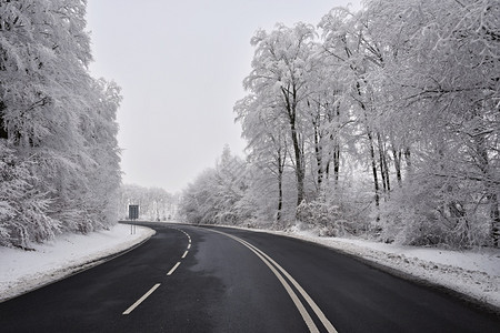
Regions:
<instances>
[{"instance_id":1,"label":"dark asphalt road curving left, with white lane markings","mask_svg":"<svg viewBox=\"0 0 500 333\"><path fill-rule=\"evenodd\" d=\"M0 332L500 331L498 314L320 245L148 225L136 250L0 303Z\"/></svg>"}]
</instances>

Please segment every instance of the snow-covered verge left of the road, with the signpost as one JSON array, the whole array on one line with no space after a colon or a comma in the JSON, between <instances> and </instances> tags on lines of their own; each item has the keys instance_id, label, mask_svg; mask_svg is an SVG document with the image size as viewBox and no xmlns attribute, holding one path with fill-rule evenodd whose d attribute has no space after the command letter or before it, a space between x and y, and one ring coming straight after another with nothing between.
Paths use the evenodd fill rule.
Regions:
<instances>
[{"instance_id":1,"label":"snow-covered verge left of the road, with the signpost","mask_svg":"<svg viewBox=\"0 0 500 333\"><path fill-rule=\"evenodd\" d=\"M34 251L0 248L0 302L101 262L154 234L149 228L117 224L88 235L62 234Z\"/></svg>"}]
</instances>

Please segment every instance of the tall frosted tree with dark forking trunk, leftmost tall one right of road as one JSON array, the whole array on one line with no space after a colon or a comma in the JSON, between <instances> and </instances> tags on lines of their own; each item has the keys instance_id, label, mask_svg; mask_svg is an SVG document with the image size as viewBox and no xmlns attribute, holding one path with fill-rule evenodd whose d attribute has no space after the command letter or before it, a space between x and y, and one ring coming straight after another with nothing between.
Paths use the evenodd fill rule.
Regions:
<instances>
[{"instance_id":1,"label":"tall frosted tree with dark forking trunk, leftmost tall one right of road","mask_svg":"<svg viewBox=\"0 0 500 333\"><path fill-rule=\"evenodd\" d=\"M276 110L287 120L297 178L297 205L304 199L304 138L300 103L307 97L307 73L311 70L314 28L297 23L293 28L277 24L271 32L259 30L251 43L256 47L252 71L244 79L247 90L271 92L278 101Z\"/></svg>"}]
</instances>

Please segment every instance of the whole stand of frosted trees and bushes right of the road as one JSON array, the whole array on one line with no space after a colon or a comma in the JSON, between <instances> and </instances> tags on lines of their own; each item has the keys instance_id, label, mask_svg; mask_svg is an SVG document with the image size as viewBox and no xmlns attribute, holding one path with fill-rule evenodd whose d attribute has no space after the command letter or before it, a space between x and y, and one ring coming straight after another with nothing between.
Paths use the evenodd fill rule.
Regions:
<instances>
[{"instance_id":1,"label":"whole stand of frosted trees and bushes right of the road","mask_svg":"<svg viewBox=\"0 0 500 333\"><path fill-rule=\"evenodd\" d=\"M498 0L368 0L251 44L247 157L188 185L186 221L499 246Z\"/></svg>"}]
</instances>

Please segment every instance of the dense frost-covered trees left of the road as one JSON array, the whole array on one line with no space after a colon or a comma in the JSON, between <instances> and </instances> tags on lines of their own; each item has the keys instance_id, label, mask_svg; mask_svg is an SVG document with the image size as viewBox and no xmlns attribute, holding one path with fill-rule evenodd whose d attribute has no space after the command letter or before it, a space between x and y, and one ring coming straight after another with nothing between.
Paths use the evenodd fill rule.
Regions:
<instances>
[{"instance_id":1,"label":"dense frost-covered trees left of the road","mask_svg":"<svg viewBox=\"0 0 500 333\"><path fill-rule=\"evenodd\" d=\"M120 88L89 73L86 8L0 2L0 245L118 221Z\"/></svg>"}]
</instances>

